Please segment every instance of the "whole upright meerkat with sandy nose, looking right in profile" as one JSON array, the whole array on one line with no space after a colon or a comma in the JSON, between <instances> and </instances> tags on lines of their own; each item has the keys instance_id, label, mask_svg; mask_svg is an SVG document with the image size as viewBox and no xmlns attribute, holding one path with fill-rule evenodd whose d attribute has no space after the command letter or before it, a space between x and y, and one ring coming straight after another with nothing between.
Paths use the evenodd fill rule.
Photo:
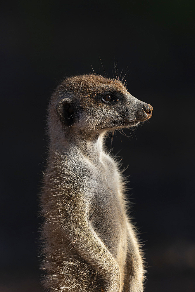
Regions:
<instances>
[{"instance_id":1,"label":"whole upright meerkat with sandy nose, looking right in profile","mask_svg":"<svg viewBox=\"0 0 195 292\"><path fill-rule=\"evenodd\" d=\"M41 196L46 291L143 291L124 179L103 141L108 131L149 119L152 109L119 80L96 74L67 78L54 91Z\"/></svg>"}]
</instances>

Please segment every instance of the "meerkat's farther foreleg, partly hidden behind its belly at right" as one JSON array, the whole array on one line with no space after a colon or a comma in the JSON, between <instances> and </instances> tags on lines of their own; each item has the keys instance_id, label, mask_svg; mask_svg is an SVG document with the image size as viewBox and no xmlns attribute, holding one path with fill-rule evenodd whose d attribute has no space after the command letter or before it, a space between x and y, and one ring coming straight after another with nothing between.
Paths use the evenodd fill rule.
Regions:
<instances>
[{"instance_id":1,"label":"meerkat's farther foreleg, partly hidden behind its belly at right","mask_svg":"<svg viewBox=\"0 0 195 292\"><path fill-rule=\"evenodd\" d=\"M125 265L125 285L124 292L143 292L144 268L143 259L140 254L139 244L137 242L133 226L127 223L128 230L128 249Z\"/></svg>"}]
</instances>

